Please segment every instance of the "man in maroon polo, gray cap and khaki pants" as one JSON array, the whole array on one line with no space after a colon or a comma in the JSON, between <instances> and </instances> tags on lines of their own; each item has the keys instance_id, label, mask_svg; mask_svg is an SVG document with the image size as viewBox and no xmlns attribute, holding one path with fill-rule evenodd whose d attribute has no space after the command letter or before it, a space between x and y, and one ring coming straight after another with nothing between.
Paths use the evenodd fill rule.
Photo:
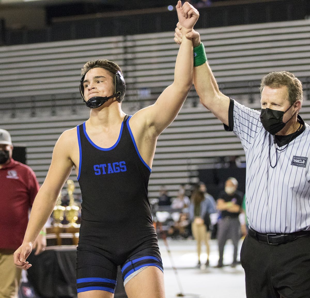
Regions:
<instances>
[{"instance_id":1,"label":"man in maroon polo, gray cap and khaki pants","mask_svg":"<svg viewBox=\"0 0 310 298\"><path fill-rule=\"evenodd\" d=\"M12 159L13 145L8 131L0 129L0 298L17 297L21 269L13 253L23 242L28 212L39 190L30 167ZM44 250L44 231L36 240L36 254Z\"/></svg>"}]
</instances>

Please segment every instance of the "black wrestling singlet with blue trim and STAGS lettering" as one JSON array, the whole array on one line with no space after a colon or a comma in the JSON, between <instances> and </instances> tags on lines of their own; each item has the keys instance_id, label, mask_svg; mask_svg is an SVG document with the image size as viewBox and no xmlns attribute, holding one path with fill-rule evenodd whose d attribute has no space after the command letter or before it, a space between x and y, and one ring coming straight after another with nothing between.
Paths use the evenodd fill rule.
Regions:
<instances>
[{"instance_id":1,"label":"black wrestling singlet with blue trim and STAGS lettering","mask_svg":"<svg viewBox=\"0 0 310 298\"><path fill-rule=\"evenodd\" d=\"M78 292L114 292L117 266L124 280L136 270L162 270L148 202L151 169L141 158L124 118L116 143L95 145L85 122L77 127L82 219L77 250Z\"/></svg>"}]
</instances>

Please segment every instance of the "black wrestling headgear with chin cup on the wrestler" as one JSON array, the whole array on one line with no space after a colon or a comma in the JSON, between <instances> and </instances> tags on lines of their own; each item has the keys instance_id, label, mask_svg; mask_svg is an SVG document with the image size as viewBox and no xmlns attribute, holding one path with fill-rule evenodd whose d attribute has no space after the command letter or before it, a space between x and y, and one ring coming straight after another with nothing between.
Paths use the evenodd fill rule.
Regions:
<instances>
[{"instance_id":1,"label":"black wrestling headgear with chin cup on the wrestler","mask_svg":"<svg viewBox=\"0 0 310 298\"><path fill-rule=\"evenodd\" d=\"M101 67L101 68L105 69L104 67ZM125 84L124 77L120 71L117 71L116 73L114 73L114 94L108 97L95 96L86 101L84 97L84 86L83 86L84 78L85 78L85 74L81 78L80 93L81 93L81 96L82 96L82 99L85 105L87 105L89 108L91 109L99 108L108 99L113 98L113 97L116 97L118 102L122 102L122 100L124 99L125 92L126 92L126 84Z\"/></svg>"}]
</instances>

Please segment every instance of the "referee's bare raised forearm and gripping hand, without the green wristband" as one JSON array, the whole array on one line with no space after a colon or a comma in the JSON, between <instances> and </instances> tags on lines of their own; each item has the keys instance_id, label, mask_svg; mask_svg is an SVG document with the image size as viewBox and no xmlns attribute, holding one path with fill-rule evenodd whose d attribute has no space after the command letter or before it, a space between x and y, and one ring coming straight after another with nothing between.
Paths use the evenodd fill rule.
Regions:
<instances>
[{"instance_id":1,"label":"referee's bare raised forearm and gripping hand, without the green wristband","mask_svg":"<svg viewBox=\"0 0 310 298\"><path fill-rule=\"evenodd\" d=\"M186 38L193 40L194 51L201 43L200 35L197 31L192 30L186 34ZM180 27L175 29L175 42L181 43L184 41ZM228 108L229 97L219 91L218 84L208 64L208 61L202 65L194 67L193 82L200 98L201 103L209 109L215 117L224 124L228 125Z\"/></svg>"}]
</instances>

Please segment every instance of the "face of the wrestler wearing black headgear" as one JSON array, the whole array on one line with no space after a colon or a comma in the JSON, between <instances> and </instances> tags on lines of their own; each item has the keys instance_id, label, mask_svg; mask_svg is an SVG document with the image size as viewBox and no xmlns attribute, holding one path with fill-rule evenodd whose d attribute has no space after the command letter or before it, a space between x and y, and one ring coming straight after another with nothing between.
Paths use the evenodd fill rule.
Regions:
<instances>
[{"instance_id":1,"label":"face of the wrestler wearing black headgear","mask_svg":"<svg viewBox=\"0 0 310 298\"><path fill-rule=\"evenodd\" d=\"M111 96L114 94L113 74L100 67L92 68L85 74L83 86L86 101L95 96Z\"/></svg>"}]
</instances>

